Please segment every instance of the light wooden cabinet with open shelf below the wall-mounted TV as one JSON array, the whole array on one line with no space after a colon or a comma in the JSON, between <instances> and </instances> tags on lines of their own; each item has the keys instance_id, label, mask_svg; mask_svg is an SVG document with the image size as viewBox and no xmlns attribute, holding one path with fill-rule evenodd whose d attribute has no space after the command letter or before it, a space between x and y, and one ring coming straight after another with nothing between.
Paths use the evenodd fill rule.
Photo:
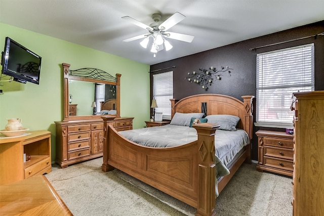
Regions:
<instances>
[{"instance_id":1,"label":"light wooden cabinet with open shelf below the wall-mounted TV","mask_svg":"<svg viewBox=\"0 0 324 216\"><path fill-rule=\"evenodd\" d=\"M52 171L51 132L31 131L21 137L0 139L0 185ZM23 155L30 156L24 162Z\"/></svg>"}]
</instances>

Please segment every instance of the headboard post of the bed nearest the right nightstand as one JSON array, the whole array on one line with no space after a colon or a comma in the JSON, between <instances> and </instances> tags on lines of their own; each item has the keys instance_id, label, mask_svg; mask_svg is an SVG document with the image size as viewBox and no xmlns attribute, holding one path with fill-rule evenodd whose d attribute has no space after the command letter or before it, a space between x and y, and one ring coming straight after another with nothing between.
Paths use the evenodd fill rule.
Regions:
<instances>
[{"instance_id":1,"label":"headboard post of the bed nearest the right nightstand","mask_svg":"<svg viewBox=\"0 0 324 216\"><path fill-rule=\"evenodd\" d=\"M243 100L244 100L244 109L246 111L245 113L245 119L244 119L244 130L248 133L249 138L250 138L250 149L248 151L248 155L247 155L247 159L246 162L247 163L251 163L251 147L252 147L252 143L251 140L253 138L253 104L252 104L252 100L254 99L254 96L242 96Z\"/></svg>"}]
</instances>

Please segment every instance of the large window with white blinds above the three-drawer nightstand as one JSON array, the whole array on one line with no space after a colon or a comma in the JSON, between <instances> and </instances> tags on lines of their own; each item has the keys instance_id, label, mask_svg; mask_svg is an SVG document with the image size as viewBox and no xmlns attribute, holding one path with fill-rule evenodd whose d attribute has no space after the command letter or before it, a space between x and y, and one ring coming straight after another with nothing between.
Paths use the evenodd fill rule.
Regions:
<instances>
[{"instance_id":1,"label":"large window with white blinds above the three-drawer nightstand","mask_svg":"<svg viewBox=\"0 0 324 216\"><path fill-rule=\"evenodd\" d=\"M257 54L256 126L293 126L292 94L314 91L314 44Z\"/></svg>"}]
</instances>

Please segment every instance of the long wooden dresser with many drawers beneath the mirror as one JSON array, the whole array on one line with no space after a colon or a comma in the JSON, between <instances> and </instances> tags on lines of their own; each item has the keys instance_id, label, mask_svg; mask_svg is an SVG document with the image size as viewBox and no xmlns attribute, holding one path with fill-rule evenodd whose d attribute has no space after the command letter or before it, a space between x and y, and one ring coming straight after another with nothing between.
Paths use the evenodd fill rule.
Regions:
<instances>
[{"instance_id":1,"label":"long wooden dresser with many drawers beneath the mirror","mask_svg":"<svg viewBox=\"0 0 324 216\"><path fill-rule=\"evenodd\" d=\"M117 131L133 129L133 117L116 117L109 121ZM103 155L103 119L55 121L56 162L70 164Z\"/></svg>"}]
</instances>

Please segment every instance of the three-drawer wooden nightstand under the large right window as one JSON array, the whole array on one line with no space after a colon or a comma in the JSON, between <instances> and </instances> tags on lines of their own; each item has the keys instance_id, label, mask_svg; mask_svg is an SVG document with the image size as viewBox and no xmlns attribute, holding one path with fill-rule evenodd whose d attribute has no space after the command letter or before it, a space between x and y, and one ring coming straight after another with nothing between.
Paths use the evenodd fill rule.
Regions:
<instances>
[{"instance_id":1,"label":"three-drawer wooden nightstand under the large right window","mask_svg":"<svg viewBox=\"0 0 324 216\"><path fill-rule=\"evenodd\" d=\"M285 132L257 131L258 171L271 171L293 176L294 140L293 135Z\"/></svg>"}]
</instances>

